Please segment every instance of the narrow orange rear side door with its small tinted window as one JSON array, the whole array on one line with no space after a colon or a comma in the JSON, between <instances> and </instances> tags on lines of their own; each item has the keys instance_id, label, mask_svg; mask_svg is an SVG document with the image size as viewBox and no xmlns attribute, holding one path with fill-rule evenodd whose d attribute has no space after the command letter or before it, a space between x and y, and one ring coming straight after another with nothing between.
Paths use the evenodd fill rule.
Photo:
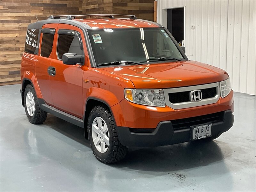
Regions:
<instances>
[{"instance_id":1,"label":"narrow orange rear side door with its small tinted window","mask_svg":"<svg viewBox=\"0 0 256 192\"><path fill-rule=\"evenodd\" d=\"M36 79L44 101L53 106L49 68L54 57L54 38L58 24L46 24L40 29L40 43L35 64Z\"/></svg>"}]
</instances>

